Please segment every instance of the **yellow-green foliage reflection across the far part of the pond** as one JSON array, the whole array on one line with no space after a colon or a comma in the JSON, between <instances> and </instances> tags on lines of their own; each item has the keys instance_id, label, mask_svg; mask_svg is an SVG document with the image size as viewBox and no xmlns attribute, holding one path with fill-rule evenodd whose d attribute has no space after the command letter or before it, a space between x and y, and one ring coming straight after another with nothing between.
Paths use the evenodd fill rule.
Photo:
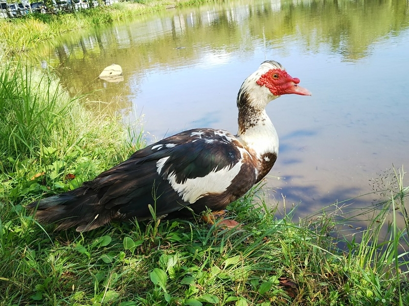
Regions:
<instances>
[{"instance_id":1,"label":"yellow-green foliage reflection across the far part of the pond","mask_svg":"<svg viewBox=\"0 0 409 306\"><path fill-rule=\"evenodd\" d=\"M245 55L254 52L257 41L286 53L286 42L296 39L306 52L329 47L345 60L356 60L365 57L374 42L409 26L405 1L297 3L226 1L176 13L147 14L81 37L70 34L56 48L56 56L61 67L71 68L64 70L63 79L92 91L100 85L84 80L95 79L112 63L126 66L127 71L144 71L157 64L186 65L203 56L197 46L206 46L207 52L216 55ZM70 50L69 46L76 47ZM85 72L84 66L89 67Z\"/></svg>"}]
</instances>

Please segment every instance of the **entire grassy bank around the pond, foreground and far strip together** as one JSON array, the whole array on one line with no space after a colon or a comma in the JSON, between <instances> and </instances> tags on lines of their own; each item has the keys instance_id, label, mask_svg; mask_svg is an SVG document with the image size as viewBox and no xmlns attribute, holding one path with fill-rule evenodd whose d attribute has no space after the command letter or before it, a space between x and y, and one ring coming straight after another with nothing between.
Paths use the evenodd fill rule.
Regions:
<instances>
[{"instance_id":1,"label":"entire grassy bank around the pond, foreground and far strip together","mask_svg":"<svg viewBox=\"0 0 409 306\"><path fill-rule=\"evenodd\" d=\"M1 42L4 52L25 50L74 25L127 17L113 17L113 12L128 11L118 8L47 20L2 20L8 37ZM13 30L10 24L22 28ZM12 35L16 29L31 38ZM344 222L328 214L297 223L291 212L277 217L276 209L263 204L259 187L228 207L228 217L242 223L234 230L200 220L116 223L85 234L53 232L53 225L38 224L25 209L28 203L76 188L144 143L104 103L99 112L90 111L86 96L71 98L47 70L5 61L5 54L0 71L0 305L409 304L402 250L407 229L395 222L402 214L409 224L403 169L382 185L381 209L352 240L337 235ZM385 226L386 241L381 238Z\"/></svg>"}]
</instances>

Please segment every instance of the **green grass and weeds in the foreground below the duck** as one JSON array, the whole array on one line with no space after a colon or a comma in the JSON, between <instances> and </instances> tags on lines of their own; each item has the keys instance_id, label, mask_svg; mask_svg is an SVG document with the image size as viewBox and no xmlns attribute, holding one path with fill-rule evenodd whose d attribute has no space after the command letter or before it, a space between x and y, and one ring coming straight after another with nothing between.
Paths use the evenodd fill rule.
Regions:
<instances>
[{"instance_id":1,"label":"green grass and weeds in the foreground below the duck","mask_svg":"<svg viewBox=\"0 0 409 306\"><path fill-rule=\"evenodd\" d=\"M14 210L0 237L0 263L7 267L0 270L3 304L409 302L404 273L391 270L403 266L398 240L377 242L378 222L343 253L328 235L332 220L298 226L286 216L277 219L265 206L255 207L255 196L253 190L229 206L230 216L244 224L232 231L173 220L113 224L84 235L53 233L24 209ZM294 285L283 286L285 281Z\"/></svg>"}]
</instances>

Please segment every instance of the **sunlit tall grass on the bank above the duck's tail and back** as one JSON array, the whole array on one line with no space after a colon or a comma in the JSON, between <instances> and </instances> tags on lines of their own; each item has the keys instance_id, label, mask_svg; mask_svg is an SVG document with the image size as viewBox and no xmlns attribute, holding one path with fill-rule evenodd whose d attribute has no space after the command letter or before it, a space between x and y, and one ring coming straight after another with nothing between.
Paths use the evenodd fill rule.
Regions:
<instances>
[{"instance_id":1,"label":"sunlit tall grass on the bank above the duck's tail and back","mask_svg":"<svg viewBox=\"0 0 409 306\"><path fill-rule=\"evenodd\" d=\"M141 145L141 135L131 135L108 108L92 112L86 104L85 97L71 99L48 71L11 63L0 73L3 196L14 201L74 188ZM75 179L67 181L69 174Z\"/></svg>"}]
</instances>

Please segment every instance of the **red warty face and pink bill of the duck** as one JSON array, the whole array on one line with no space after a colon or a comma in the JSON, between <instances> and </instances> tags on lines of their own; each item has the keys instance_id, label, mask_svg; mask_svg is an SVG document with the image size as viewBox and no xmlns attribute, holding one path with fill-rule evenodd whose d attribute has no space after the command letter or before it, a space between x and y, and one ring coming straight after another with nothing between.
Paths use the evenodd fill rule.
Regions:
<instances>
[{"instance_id":1,"label":"red warty face and pink bill of the duck","mask_svg":"<svg viewBox=\"0 0 409 306\"><path fill-rule=\"evenodd\" d=\"M262 74L256 82L260 86L267 87L272 94L280 96L283 94L311 95L309 90L298 85L300 79L292 78L287 71L276 68L270 69Z\"/></svg>"}]
</instances>

